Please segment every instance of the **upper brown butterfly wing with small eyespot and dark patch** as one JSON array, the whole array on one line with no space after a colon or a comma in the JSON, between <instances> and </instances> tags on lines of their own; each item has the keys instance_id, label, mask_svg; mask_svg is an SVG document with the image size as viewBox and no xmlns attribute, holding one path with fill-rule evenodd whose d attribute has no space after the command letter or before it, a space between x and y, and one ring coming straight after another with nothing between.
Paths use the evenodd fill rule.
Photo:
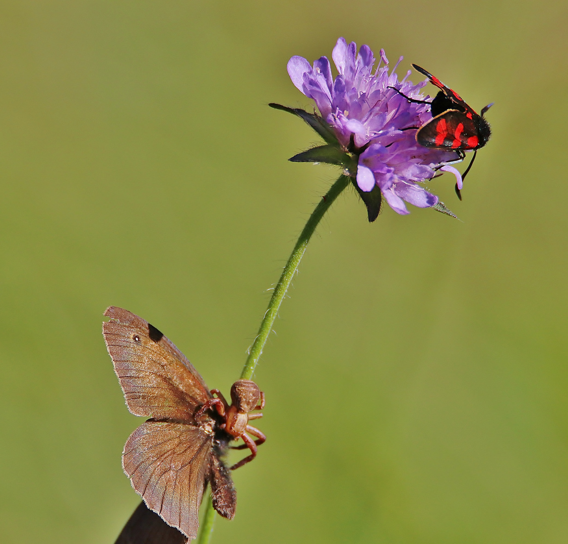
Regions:
<instances>
[{"instance_id":1,"label":"upper brown butterfly wing with small eyespot and dark patch","mask_svg":"<svg viewBox=\"0 0 568 544\"><path fill-rule=\"evenodd\" d=\"M111 306L103 336L128 409L136 416L191 421L211 398L185 355L148 321Z\"/></svg>"}]
</instances>

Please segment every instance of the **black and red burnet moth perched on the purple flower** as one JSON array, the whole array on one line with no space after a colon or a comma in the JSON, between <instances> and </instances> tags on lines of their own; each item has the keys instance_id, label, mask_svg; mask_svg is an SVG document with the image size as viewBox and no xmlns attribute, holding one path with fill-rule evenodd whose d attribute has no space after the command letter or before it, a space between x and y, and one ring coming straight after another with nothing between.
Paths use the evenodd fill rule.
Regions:
<instances>
[{"instance_id":1,"label":"black and red burnet moth perched on the purple flower","mask_svg":"<svg viewBox=\"0 0 568 544\"><path fill-rule=\"evenodd\" d=\"M440 89L431 102L406 97L410 102L430 104L431 106L432 119L416 131L416 141L424 147L456 151L459 157L456 162L463 161L465 151L473 150L474 153L469 166L462 174L463 180L471 169L471 165L473 165L477 150L482 148L491 136L491 128L483 116L493 103L487 104L479 115L456 91L444 85L440 79L432 76L431 73L416 64L412 66L415 70L424 74L432 85L436 85ZM398 92L400 93L400 91ZM445 164L450 163L446 162ZM456 193L461 200L457 183Z\"/></svg>"}]
</instances>

